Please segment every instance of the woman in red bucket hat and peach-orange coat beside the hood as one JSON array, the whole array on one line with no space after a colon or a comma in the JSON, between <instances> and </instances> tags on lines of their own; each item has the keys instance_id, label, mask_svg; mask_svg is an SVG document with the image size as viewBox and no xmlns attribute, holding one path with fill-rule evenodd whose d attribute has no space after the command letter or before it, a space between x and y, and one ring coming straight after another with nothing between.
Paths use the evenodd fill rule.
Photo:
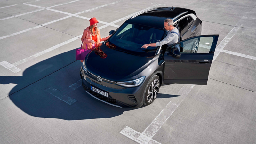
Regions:
<instances>
[{"instance_id":1,"label":"woman in red bucket hat and peach-orange coat beside the hood","mask_svg":"<svg viewBox=\"0 0 256 144\"><path fill-rule=\"evenodd\" d=\"M92 18L89 20L90 26L84 29L83 36L81 38L81 41L84 42L82 49L92 50L96 46L100 44L101 41L106 41L110 36L107 36L105 38L100 37L100 29L97 28L97 23L99 22L96 20L96 18ZM84 60L81 60L83 62Z\"/></svg>"}]
</instances>

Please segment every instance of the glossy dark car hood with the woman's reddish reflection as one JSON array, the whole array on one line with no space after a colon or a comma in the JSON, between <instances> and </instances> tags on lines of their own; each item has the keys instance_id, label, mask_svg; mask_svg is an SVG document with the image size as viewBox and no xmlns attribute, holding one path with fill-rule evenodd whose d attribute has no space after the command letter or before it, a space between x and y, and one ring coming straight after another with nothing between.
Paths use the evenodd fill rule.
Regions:
<instances>
[{"instance_id":1,"label":"glossy dark car hood with the woman's reddish reflection","mask_svg":"<svg viewBox=\"0 0 256 144\"><path fill-rule=\"evenodd\" d=\"M104 52L106 57L100 57L98 54L100 51ZM102 44L89 53L86 60L86 67L88 71L101 76L105 75L108 77L107 75L112 75L126 77L138 74L138 72L150 64L152 59L152 57L140 57L120 52Z\"/></svg>"}]
</instances>

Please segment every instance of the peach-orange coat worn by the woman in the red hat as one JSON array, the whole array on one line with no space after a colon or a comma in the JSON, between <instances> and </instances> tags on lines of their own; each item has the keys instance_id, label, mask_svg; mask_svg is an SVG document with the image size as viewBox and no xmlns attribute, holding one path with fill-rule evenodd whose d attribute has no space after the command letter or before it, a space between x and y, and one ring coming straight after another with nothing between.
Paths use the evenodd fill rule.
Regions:
<instances>
[{"instance_id":1,"label":"peach-orange coat worn by the woman in the red hat","mask_svg":"<svg viewBox=\"0 0 256 144\"><path fill-rule=\"evenodd\" d=\"M95 42L95 47L98 46L101 41L107 40L107 38L101 38L100 37L100 29L99 28L97 29L97 31L98 31L98 35L97 35L97 42ZM87 49L88 50L92 49L92 43L90 43L91 39L92 39L92 33L90 31L90 28L87 27L86 29L84 29L84 33L83 33L83 36L81 38L82 42L84 40L82 49L86 49L86 44L87 44Z\"/></svg>"}]
</instances>

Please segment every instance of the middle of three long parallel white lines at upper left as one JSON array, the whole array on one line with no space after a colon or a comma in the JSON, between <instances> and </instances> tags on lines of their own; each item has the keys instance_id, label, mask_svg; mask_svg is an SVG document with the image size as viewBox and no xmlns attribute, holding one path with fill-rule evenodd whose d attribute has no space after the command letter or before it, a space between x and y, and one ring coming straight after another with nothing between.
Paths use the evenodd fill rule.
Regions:
<instances>
[{"instance_id":1,"label":"middle of three long parallel white lines at upper left","mask_svg":"<svg viewBox=\"0 0 256 144\"><path fill-rule=\"evenodd\" d=\"M95 9L98 9L98 8L101 8L101 7L104 7L104 6L108 6L108 5L111 5L111 4L115 4L115 3L118 3L119 1L117 2L113 2L113 3L109 3L109 4L105 4L105 5L102 5L102 6L98 6L98 7L95 7L95 8L92 8L92 9L89 9L89 10L86 10L86 11L83 11L82 13L84 12L89 12L89 11L92 11L92 10L95 10ZM81 12L78 12L81 14ZM78 13L76 13L75 15L77 15ZM36 29L36 28L40 28L42 26L46 26L46 25L49 25L51 23L54 23L54 22L57 22L57 21L60 21L60 20L64 20L64 19L67 19L67 18L70 18L72 16L66 16L64 18L60 18L58 20L53 20L53 21L50 21L50 22L47 22L45 24L42 24L42 25L39 25L39 26L36 26L36 27L33 27L33 28L28 28L28 29L25 29L25 30L22 30L22 31L19 31L19 32L16 32L16 33L13 33L13 34L10 34L10 35L7 35L7 36L2 36L0 37L0 40L1 39L4 39L4 38L7 38L7 37L11 37L11 36L15 36L15 35L18 35L18 34L21 34L21 33L24 33L24 32L27 32L27 31L30 31L30 30L33 30L33 29Z\"/></svg>"}]
</instances>

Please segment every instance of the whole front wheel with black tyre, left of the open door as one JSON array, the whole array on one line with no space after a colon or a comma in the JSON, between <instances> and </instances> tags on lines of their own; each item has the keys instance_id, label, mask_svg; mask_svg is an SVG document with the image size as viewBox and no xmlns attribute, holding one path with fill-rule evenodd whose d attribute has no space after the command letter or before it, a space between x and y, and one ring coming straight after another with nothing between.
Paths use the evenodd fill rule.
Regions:
<instances>
[{"instance_id":1,"label":"whole front wheel with black tyre, left of the open door","mask_svg":"<svg viewBox=\"0 0 256 144\"><path fill-rule=\"evenodd\" d=\"M143 104L147 106L153 103L156 99L159 89L160 89L159 76L154 75L150 78L145 88L144 96L143 96L143 100L144 100Z\"/></svg>"}]
</instances>

